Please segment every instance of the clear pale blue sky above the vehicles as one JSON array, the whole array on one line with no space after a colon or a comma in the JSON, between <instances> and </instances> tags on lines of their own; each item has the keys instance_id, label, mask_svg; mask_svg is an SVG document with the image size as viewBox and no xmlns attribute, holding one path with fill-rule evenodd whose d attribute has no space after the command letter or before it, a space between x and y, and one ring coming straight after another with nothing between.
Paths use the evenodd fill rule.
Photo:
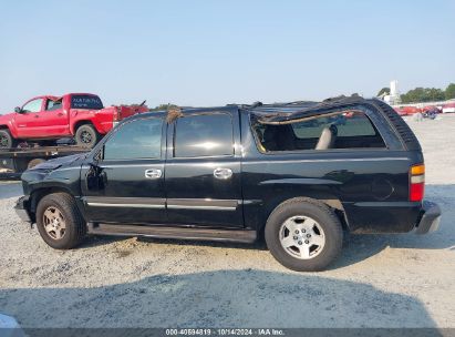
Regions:
<instances>
[{"instance_id":1,"label":"clear pale blue sky above the vehicles","mask_svg":"<svg viewBox=\"0 0 455 337\"><path fill-rule=\"evenodd\" d=\"M455 0L0 0L0 113L68 92L206 106L444 89L454 13Z\"/></svg>"}]
</instances>

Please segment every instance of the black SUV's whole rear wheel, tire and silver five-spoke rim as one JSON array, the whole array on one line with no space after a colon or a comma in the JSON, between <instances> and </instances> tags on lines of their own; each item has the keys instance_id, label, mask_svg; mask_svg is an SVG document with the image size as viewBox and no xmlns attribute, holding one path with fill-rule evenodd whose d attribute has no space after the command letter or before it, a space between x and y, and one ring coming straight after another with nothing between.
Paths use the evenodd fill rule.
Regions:
<instances>
[{"instance_id":1,"label":"black SUV's whole rear wheel, tire and silver five-spoke rim","mask_svg":"<svg viewBox=\"0 0 455 337\"><path fill-rule=\"evenodd\" d=\"M340 219L325 204L299 197L280 204L266 224L266 243L271 255L297 272L324 269L341 253Z\"/></svg>"}]
</instances>

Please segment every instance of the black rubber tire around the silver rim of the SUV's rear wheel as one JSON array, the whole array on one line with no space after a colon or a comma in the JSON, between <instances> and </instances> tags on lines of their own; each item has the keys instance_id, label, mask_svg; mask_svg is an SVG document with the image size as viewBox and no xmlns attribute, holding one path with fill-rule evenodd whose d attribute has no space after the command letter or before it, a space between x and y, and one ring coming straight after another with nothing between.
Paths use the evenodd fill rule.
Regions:
<instances>
[{"instance_id":1,"label":"black rubber tire around the silver rim of the SUV's rear wheel","mask_svg":"<svg viewBox=\"0 0 455 337\"><path fill-rule=\"evenodd\" d=\"M285 222L292 218L301 221L299 217L307 217L310 218L310 221L313 219L319 226L313 231L317 232L316 234L319 232L318 228L322 229L322 236L313 233L313 237L320 236L320 239L323 238L323 245L312 245L312 243L309 242L307 246L308 252L313 249L310 254L313 254L314 256L311 257L311 255L309 255L310 257L307 257L307 259L301 259L292 255L292 253L294 255L300 255L300 247L302 246L298 245L307 244L304 237L300 238L297 234L296 236L292 234L292 239L296 241L296 246L288 247L287 249L281 244L282 233L288 231L282 227L285 226ZM302 224L303 223L306 224L304 221ZM303 233L304 231L301 229L298 235L308 235ZM288 233L288 236L289 235L290 233ZM271 255L280 264L296 272L317 272L324 269L340 255L343 244L342 225L334 212L332 212L325 204L308 197L292 198L275 208L267 219L265 236ZM290 239L288 236L286 236L286 238ZM302 241L304 242L302 243ZM318 251L318 248L320 249Z\"/></svg>"}]
</instances>

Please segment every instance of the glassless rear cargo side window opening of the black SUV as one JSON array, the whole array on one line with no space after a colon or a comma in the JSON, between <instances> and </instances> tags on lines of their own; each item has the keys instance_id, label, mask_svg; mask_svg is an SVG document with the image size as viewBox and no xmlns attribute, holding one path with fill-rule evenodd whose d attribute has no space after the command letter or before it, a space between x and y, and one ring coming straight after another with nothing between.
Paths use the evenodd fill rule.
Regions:
<instances>
[{"instance_id":1,"label":"glassless rear cargo side window opening of the black SUV","mask_svg":"<svg viewBox=\"0 0 455 337\"><path fill-rule=\"evenodd\" d=\"M370 119L359 110L281 125L258 123L254 127L262 152L385 147Z\"/></svg>"}]
</instances>

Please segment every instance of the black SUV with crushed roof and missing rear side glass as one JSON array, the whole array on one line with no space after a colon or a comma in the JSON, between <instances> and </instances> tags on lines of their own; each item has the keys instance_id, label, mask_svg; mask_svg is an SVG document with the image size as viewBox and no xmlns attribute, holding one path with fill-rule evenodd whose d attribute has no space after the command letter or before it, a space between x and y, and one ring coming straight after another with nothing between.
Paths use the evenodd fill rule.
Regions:
<instances>
[{"instance_id":1,"label":"black SUV with crushed roof and missing rear side glass","mask_svg":"<svg viewBox=\"0 0 455 337\"><path fill-rule=\"evenodd\" d=\"M263 235L285 266L319 270L345 231L437 228L423 162L413 132L379 100L170 109L125 120L90 153L27 171L15 208L54 248L86 234Z\"/></svg>"}]
</instances>

